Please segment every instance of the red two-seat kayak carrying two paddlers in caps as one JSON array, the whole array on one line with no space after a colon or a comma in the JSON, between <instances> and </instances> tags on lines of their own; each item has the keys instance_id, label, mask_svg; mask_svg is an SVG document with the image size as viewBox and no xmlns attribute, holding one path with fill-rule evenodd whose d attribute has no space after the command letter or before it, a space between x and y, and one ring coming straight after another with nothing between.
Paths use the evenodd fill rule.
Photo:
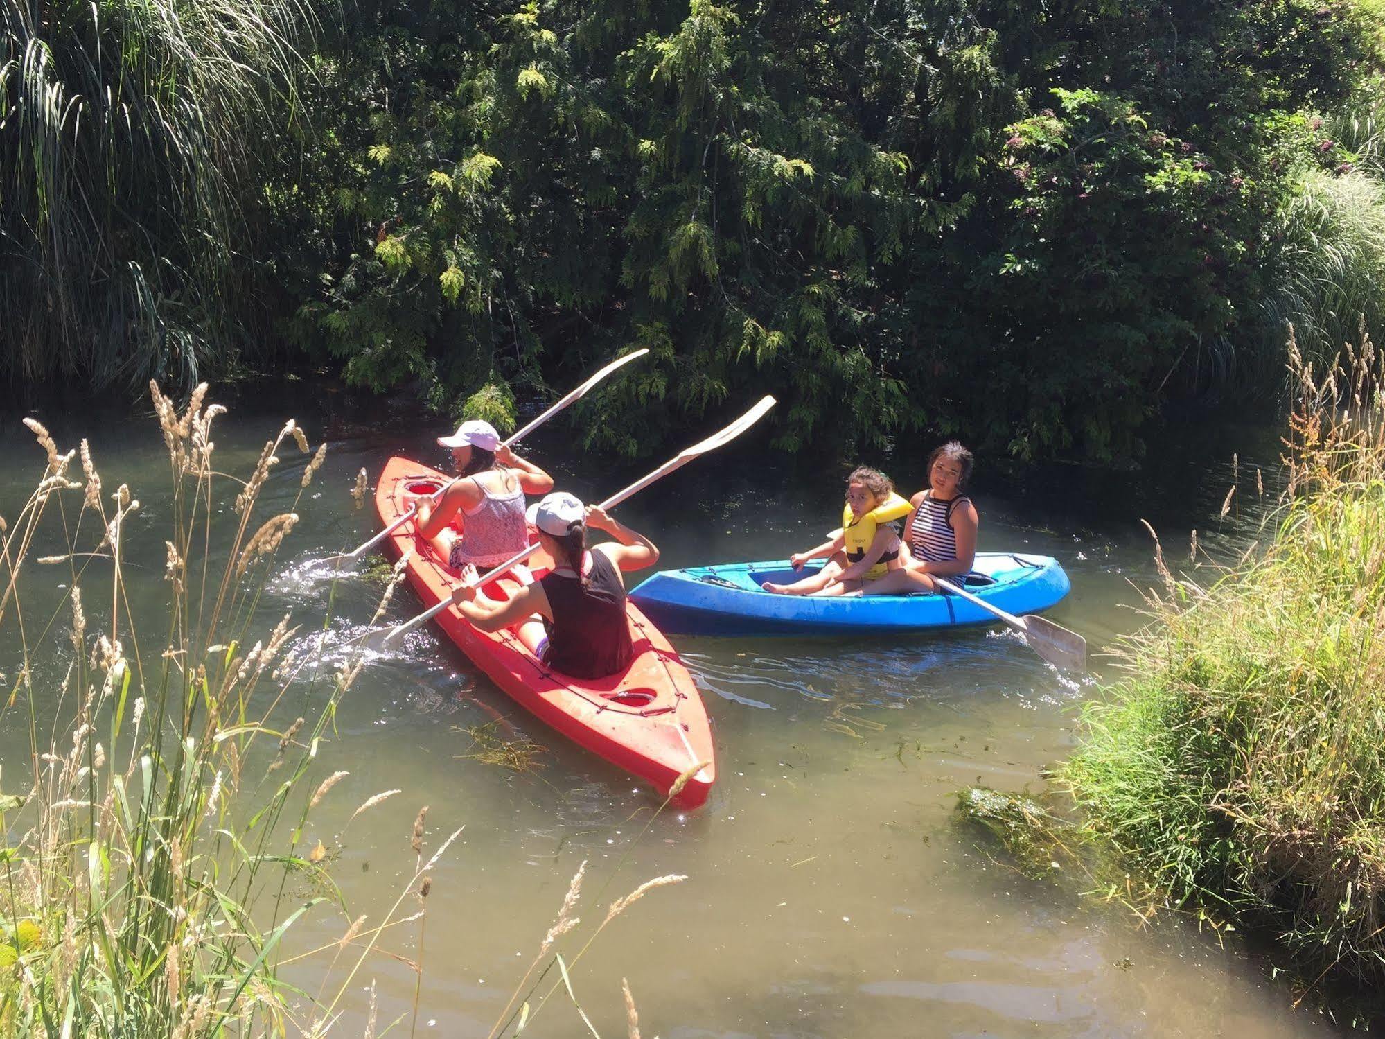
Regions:
<instances>
[{"instance_id":1,"label":"red two-seat kayak carrying two paddlers in caps","mask_svg":"<svg viewBox=\"0 0 1385 1039\"><path fill-rule=\"evenodd\" d=\"M391 459L375 486L381 522L393 522L409 511L414 496L431 495L446 482L447 477L417 461ZM452 597L457 574L416 536L413 524L389 535L385 546L395 558L413 549L409 580L424 603L434 605ZM517 587L514 579L500 578L485 593L503 600ZM702 698L679 654L633 603L626 603L626 621L634 659L607 679L573 679L550 671L514 632L481 632L456 607L435 619L471 662L518 704L661 794L668 794L673 781L699 761L709 762L683 788L677 803L697 808L706 801L716 765Z\"/></svg>"}]
</instances>

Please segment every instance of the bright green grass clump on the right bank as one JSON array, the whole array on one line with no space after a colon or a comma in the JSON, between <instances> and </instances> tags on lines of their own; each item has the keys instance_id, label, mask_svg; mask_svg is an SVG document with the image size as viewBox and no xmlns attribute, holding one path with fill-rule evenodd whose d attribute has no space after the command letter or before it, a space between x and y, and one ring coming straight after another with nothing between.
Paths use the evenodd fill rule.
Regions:
<instances>
[{"instance_id":1,"label":"bright green grass clump on the right bank","mask_svg":"<svg viewBox=\"0 0 1385 1039\"><path fill-rule=\"evenodd\" d=\"M1267 928L1316 975L1385 978L1385 403L1370 342L1314 375L1285 501L1210 587L1161 561L1126 677L1058 773L1174 905ZM1162 557L1161 557L1162 558Z\"/></svg>"}]
</instances>

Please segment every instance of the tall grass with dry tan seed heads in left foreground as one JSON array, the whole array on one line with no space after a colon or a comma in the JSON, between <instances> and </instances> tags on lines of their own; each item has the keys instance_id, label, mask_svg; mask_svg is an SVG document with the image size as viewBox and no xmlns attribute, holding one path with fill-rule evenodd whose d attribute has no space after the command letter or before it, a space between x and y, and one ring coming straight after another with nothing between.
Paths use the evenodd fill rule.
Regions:
<instances>
[{"instance_id":1,"label":"tall grass with dry tan seed heads in left foreground","mask_svg":"<svg viewBox=\"0 0 1385 1039\"><path fill-rule=\"evenodd\" d=\"M417 973L411 1014L391 1014L410 1015L417 1029L432 871L461 830L431 844L422 808L392 905L368 927L352 920L331 856L305 833L348 774L319 758L366 659L330 668L321 618L307 632L289 615L256 632L267 575L325 447L312 450L288 421L244 479L220 472L213 425L224 409L205 405L205 391L179 413L151 385L172 485L159 507L169 517L168 608L154 611L152 629L129 605L134 492L104 485L86 441L62 453L26 420L43 475L19 513L0 518L0 637L18 659L15 673L0 676L0 711L29 734L28 755L0 773L0 1035L320 1036L341 1021L381 936L414 923L411 959L384 954ZM294 452L298 495L287 511L265 515L266 481ZM66 549L36 556L55 531ZM396 564L374 619L402 578ZM57 612L35 614L37 585L66 589ZM367 798L350 820L397 794ZM575 884L493 1033L518 1033L533 1020L543 1003L529 997L554 967L576 1004L572 968L596 936L677 880L648 881L614 902L564 959L562 939L579 924ZM341 916L341 938L285 950L285 935L314 907ZM284 968L312 956L330 963L309 995ZM368 1036L375 1013L373 996Z\"/></svg>"}]
</instances>

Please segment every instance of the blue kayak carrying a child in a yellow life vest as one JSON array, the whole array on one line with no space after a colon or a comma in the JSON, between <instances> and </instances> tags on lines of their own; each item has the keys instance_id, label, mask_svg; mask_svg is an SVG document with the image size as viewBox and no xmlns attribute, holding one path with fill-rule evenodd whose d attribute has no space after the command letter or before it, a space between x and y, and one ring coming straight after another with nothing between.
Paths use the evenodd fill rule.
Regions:
<instances>
[{"instance_id":1,"label":"blue kayak carrying a child in a yellow life vest","mask_svg":"<svg viewBox=\"0 0 1385 1039\"><path fill-rule=\"evenodd\" d=\"M820 568L813 562L795 571L788 560L771 560L665 569L630 598L659 629L683 634L918 632L996 622L975 603L943 593L810 598L760 589L760 582L788 585ZM1051 556L976 553L965 587L1011 614L1032 614L1054 605L1072 585Z\"/></svg>"}]
</instances>

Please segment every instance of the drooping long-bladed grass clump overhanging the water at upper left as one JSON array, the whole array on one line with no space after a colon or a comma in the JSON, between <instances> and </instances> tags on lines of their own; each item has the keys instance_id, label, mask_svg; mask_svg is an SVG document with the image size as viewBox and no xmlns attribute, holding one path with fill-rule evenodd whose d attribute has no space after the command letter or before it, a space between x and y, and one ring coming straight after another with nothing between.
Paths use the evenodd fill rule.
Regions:
<instances>
[{"instance_id":1,"label":"drooping long-bladed grass clump overhanging the water at upper left","mask_svg":"<svg viewBox=\"0 0 1385 1039\"><path fill-rule=\"evenodd\" d=\"M310 26L299 0L0 0L0 371L191 388L224 353Z\"/></svg>"}]
</instances>

